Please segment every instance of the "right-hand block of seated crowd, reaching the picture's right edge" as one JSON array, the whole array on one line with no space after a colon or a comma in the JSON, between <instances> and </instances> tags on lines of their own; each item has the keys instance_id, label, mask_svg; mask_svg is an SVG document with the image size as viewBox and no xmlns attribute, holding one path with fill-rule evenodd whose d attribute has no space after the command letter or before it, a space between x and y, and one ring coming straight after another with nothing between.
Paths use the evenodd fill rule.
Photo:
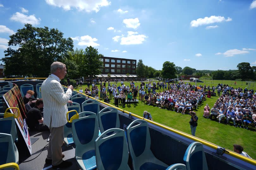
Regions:
<instances>
[{"instance_id":1,"label":"right-hand block of seated crowd, reaching the picture's right edge","mask_svg":"<svg viewBox=\"0 0 256 170\"><path fill-rule=\"evenodd\" d=\"M204 117L217 119L219 123L224 119L226 124L232 120L235 127L250 128L256 126L256 93L253 89L233 88L229 85L218 84L219 98L210 109L208 104L204 107Z\"/></svg>"}]
</instances>

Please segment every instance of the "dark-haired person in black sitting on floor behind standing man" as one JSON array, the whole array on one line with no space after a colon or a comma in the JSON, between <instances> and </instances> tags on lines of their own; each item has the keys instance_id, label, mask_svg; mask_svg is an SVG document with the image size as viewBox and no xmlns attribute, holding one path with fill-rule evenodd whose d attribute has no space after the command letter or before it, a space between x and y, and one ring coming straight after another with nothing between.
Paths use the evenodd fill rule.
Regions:
<instances>
[{"instance_id":1,"label":"dark-haired person in black sitting on floor behind standing man","mask_svg":"<svg viewBox=\"0 0 256 170\"><path fill-rule=\"evenodd\" d=\"M35 102L35 107L31 108L27 112L27 126L32 131L46 131L49 128L46 125L43 125L44 118L42 117L40 108L44 107L43 99L37 99ZM40 124L41 123L41 124Z\"/></svg>"}]
</instances>

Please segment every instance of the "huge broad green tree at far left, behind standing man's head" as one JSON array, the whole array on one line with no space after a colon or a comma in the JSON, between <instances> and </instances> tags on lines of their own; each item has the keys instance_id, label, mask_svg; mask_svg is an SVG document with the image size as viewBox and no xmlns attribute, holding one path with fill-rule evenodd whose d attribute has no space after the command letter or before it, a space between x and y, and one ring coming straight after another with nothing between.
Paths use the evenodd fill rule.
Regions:
<instances>
[{"instance_id":1,"label":"huge broad green tree at far left, behind standing man's head","mask_svg":"<svg viewBox=\"0 0 256 170\"><path fill-rule=\"evenodd\" d=\"M39 28L31 24L25 24L11 35L8 45L5 57L1 59L5 63L6 75L46 77L52 62L69 60L68 51L73 50L73 40L63 38L58 29Z\"/></svg>"}]
</instances>

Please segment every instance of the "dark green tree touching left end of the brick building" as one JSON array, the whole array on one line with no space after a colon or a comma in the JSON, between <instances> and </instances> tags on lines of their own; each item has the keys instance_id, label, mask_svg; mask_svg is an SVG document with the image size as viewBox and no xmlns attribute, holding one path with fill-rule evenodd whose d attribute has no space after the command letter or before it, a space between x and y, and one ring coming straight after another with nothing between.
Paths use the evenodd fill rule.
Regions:
<instances>
[{"instance_id":1,"label":"dark green tree touching left end of the brick building","mask_svg":"<svg viewBox=\"0 0 256 170\"><path fill-rule=\"evenodd\" d=\"M90 79L95 75L101 74L103 62L100 60L101 54L98 54L98 49L92 46L86 47L84 51L84 58L82 60L83 69L81 75L90 76Z\"/></svg>"}]
</instances>

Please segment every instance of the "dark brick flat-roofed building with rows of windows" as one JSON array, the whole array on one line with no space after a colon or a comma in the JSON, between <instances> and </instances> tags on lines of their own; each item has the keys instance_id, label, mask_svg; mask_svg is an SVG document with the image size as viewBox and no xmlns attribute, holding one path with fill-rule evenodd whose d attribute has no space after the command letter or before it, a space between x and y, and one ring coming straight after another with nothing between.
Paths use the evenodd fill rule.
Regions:
<instances>
[{"instance_id":1,"label":"dark brick flat-roofed building with rows of windows","mask_svg":"<svg viewBox=\"0 0 256 170\"><path fill-rule=\"evenodd\" d=\"M137 61L125 58L102 57L101 74L136 74Z\"/></svg>"}]
</instances>

